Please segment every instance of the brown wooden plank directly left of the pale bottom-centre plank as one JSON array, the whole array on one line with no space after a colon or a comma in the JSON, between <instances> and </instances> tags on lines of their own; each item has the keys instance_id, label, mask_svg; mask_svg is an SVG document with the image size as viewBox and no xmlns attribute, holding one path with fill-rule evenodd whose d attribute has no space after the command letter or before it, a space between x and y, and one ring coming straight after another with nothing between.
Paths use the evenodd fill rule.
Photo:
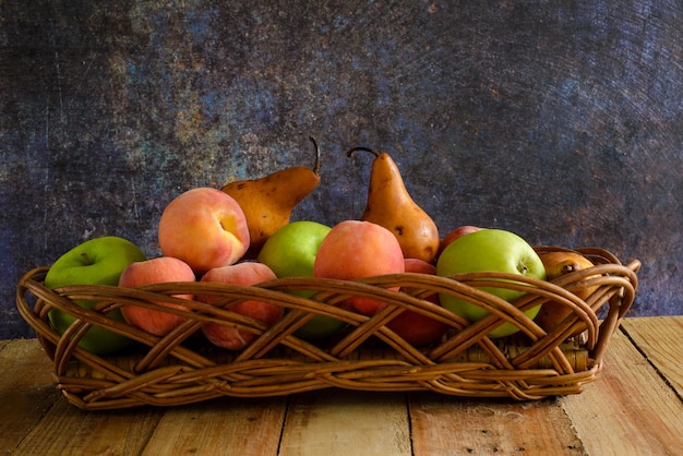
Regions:
<instances>
[{"instance_id":1,"label":"brown wooden plank directly left of the pale bottom-centre plank","mask_svg":"<svg viewBox=\"0 0 683 456\"><path fill-rule=\"evenodd\" d=\"M275 455L287 399L220 398L169 409L143 455Z\"/></svg>"}]
</instances>

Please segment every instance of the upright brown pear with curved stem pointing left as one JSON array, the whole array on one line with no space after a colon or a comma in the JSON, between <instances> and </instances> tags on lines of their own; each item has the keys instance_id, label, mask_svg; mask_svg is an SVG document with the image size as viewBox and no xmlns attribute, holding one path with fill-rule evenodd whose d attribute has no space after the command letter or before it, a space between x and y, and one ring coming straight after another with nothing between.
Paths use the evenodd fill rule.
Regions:
<instances>
[{"instance_id":1,"label":"upright brown pear with curved stem pointing left","mask_svg":"<svg viewBox=\"0 0 683 456\"><path fill-rule=\"evenodd\" d=\"M367 147L357 151L370 152L375 156L370 173L368 203L361 220L381 225L394 233L404 257L419 259L432 263L439 251L439 230L434 220L410 197L398 167L392 157L383 152Z\"/></svg>"}]
</instances>

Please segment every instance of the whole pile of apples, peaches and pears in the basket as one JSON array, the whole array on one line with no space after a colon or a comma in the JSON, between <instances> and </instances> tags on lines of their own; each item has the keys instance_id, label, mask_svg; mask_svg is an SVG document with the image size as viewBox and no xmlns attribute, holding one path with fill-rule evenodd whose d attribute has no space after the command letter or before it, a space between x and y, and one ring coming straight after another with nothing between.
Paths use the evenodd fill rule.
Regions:
<instances>
[{"instance_id":1,"label":"whole pile of apples, peaches and pears in the basket","mask_svg":"<svg viewBox=\"0 0 683 456\"><path fill-rule=\"evenodd\" d=\"M208 281L252 286L281 277L320 277L354 280L387 274L420 273L442 277L496 271L552 280L592 263L572 251L538 254L519 236L494 228L460 226L440 237L432 218L410 197L400 172L386 153L356 147L349 151L374 155L367 207L360 219L333 227L314 220L291 221L293 207L320 183L320 153L315 166L287 168L254 180L230 182L223 189L195 188L173 199L158 225L161 256L147 256L132 242L119 237L88 240L60 256L49 268L45 286L70 285L141 287L152 284ZM486 291L508 302L524 292L488 287ZM290 291L315 299L312 291ZM586 299L591 290L582 289ZM577 293L578 295L578 293ZM165 305L183 307L183 300L216 303L214 296L177 295ZM488 311L452 295L426 298L463 319L477 322ZM91 308L93 301L77 301ZM380 299L354 297L339 303L362 315L373 315L386 303ZM244 300L229 310L273 325L285 310L269 302ZM550 331L566 317L566 308L552 301L526 314ZM108 316L164 336L183 323L183 316L142 307L124 305ZM63 334L75 317L58 309L49 312L52 327ZM345 322L315 315L297 329L298 337L316 340L343 329ZM448 325L422 313L405 310L387 326L409 344L423 346L440 340ZM256 336L219 324L204 324L202 333L212 344L240 350ZM517 332L512 323L493 329L489 337ZM119 352L132 340L93 326L80 346L98 355Z\"/></svg>"}]
</instances>

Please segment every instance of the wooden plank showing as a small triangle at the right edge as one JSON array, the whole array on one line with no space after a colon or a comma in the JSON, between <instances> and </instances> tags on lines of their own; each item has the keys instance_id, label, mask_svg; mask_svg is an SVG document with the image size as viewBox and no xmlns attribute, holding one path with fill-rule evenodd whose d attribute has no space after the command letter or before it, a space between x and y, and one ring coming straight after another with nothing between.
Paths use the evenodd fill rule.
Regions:
<instances>
[{"instance_id":1,"label":"wooden plank showing as a small triangle at the right edge","mask_svg":"<svg viewBox=\"0 0 683 456\"><path fill-rule=\"evenodd\" d=\"M683 398L683 316L626 319L623 331Z\"/></svg>"}]
</instances>

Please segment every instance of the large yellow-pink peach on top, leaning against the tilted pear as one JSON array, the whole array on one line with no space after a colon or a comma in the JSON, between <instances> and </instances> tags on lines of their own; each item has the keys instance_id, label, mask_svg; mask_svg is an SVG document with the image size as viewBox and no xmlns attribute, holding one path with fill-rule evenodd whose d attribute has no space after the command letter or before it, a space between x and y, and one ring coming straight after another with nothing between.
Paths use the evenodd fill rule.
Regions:
<instances>
[{"instance_id":1,"label":"large yellow-pink peach on top, leaning against the tilted pear","mask_svg":"<svg viewBox=\"0 0 683 456\"><path fill-rule=\"evenodd\" d=\"M240 205L218 189L197 188L172 200L159 220L159 247L202 275L235 264L249 249L249 227Z\"/></svg>"}]
</instances>

